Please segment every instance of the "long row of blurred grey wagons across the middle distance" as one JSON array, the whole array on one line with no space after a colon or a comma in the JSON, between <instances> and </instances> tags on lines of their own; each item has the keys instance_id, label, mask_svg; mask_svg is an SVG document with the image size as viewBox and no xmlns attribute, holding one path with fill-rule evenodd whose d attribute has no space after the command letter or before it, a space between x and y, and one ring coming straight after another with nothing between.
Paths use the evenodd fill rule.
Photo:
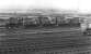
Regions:
<instances>
[{"instance_id":1,"label":"long row of blurred grey wagons across the middle distance","mask_svg":"<svg viewBox=\"0 0 91 54\"><path fill-rule=\"evenodd\" d=\"M26 28L38 26L60 26L60 25L79 25L79 17L66 18L65 16L26 16L26 17L10 17L5 23L7 28Z\"/></svg>"}]
</instances>

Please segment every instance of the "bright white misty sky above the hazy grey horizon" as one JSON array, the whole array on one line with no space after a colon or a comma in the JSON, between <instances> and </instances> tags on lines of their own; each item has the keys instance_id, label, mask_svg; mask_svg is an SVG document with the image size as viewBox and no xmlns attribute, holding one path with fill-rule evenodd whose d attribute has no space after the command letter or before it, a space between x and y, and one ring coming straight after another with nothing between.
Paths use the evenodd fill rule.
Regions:
<instances>
[{"instance_id":1,"label":"bright white misty sky above the hazy grey horizon","mask_svg":"<svg viewBox=\"0 0 91 54\"><path fill-rule=\"evenodd\" d=\"M0 11L10 9L55 8L91 13L91 0L0 0Z\"/></svg>"}]
</instances>

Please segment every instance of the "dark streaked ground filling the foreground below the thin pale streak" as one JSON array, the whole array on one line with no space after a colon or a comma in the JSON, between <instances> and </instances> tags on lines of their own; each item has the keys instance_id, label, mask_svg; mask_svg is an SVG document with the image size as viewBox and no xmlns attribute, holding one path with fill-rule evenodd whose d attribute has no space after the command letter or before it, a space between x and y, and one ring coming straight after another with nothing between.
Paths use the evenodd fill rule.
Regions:
<instances>
[{"instance_id":1,"label":"dark streaked ground filling the foreground below the thin pale streak","mask_svg":"<svg viewBox=\"0 0 91 54\"><path fill-rule=\"evenodd\" d=\"M90 54L91 50L88 49L91 44L90 38L78 30L0 37L0 54Z\"/></svg>"}]
</instances>

